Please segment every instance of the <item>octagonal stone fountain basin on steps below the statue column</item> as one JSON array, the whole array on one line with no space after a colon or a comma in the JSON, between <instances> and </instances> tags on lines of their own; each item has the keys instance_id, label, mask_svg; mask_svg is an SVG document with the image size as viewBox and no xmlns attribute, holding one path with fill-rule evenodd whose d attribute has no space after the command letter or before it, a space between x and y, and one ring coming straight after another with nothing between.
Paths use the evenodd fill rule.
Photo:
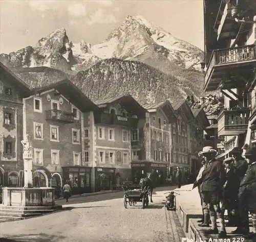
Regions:
<instances>
[{"instance_id":1,"label":"octagonal stone fountain basin on steps below the statue column","mask_svg":"<svg viewBox=\"0 0 256 242\"><path fill-rule=\"evenodd\" d=\"M20 220L60 209L55 206L54 188L3 187L0 220Z\"/></svg>"}]
</instances>

